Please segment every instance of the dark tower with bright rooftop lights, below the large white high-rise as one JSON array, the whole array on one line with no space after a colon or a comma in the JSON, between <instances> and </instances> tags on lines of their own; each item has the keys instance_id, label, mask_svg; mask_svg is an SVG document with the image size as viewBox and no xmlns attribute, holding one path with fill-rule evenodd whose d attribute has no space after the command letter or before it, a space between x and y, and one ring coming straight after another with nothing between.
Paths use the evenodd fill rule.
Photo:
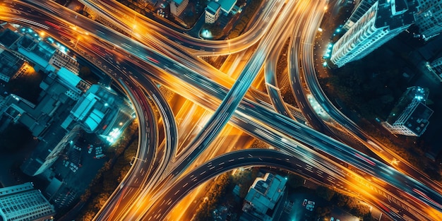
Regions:
<instances>
[{"instance_id":1,"label":"dark tower with bright rooftop lights, below the large white high-rise","mask_svg":"<svg viewBox=\"0 0 442 221\"><path fill-rule=\"evenodd\" d=\"M429 125L433 110L425 105L428 91L411 87L402 95L387 121L381 124L391 133L405 136L421 136Z\"/></svg>"}]
</instances>

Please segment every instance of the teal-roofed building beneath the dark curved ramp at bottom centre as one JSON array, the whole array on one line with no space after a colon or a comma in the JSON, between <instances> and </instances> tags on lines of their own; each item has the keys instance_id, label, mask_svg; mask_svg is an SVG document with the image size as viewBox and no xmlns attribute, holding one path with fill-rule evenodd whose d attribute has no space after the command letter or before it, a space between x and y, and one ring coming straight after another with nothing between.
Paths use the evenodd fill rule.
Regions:
<instances>
[{"instance_id":1,"label":"teal-roofed building beneath the dark curved ramp at bottom centre","mask_svg":"<svg viewBox=\"0 0 442 221\"><path fill-rule=\"evenodd\" d=\"M273 220L275 205L284 195L286 183L286 178L270 173L256 178L244 198L244 213L239 220Z\"/></svg>"}]
</instances>

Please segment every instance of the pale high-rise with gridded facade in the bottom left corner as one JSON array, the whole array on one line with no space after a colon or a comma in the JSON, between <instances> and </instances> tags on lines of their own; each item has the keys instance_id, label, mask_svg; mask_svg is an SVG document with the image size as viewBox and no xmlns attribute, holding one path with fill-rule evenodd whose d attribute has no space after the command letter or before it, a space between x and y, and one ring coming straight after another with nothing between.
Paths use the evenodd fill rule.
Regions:
<instances>
[{"instance_id":1,"label":"pale high-rise with gridded facade in the bottom left corner","mask_svg":"<svg viewBox=\"0 0 442 221\"><path fill-rule=\"evenodd\" d=\"M0 217L8 221L53 220L54 206L32 183L0 188Z\"/></svg>"}]
</instances>

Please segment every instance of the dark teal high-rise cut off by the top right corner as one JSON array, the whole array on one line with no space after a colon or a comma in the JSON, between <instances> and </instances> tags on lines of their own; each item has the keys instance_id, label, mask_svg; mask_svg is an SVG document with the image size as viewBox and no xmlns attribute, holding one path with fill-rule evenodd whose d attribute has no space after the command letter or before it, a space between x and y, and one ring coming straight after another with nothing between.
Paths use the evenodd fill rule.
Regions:
<instances>
[{"instance_id":1,"label":"dark teal high-rise cut off by the top right corner","mask_svg":"<svg viewBox=\"0 0 442 221\"><path fill-rule=\"evenodd\" d=\"M417 0L417 13L414 14L416 25L425 40L442 32L442 1Z\"/></svg>"}]
</instances>

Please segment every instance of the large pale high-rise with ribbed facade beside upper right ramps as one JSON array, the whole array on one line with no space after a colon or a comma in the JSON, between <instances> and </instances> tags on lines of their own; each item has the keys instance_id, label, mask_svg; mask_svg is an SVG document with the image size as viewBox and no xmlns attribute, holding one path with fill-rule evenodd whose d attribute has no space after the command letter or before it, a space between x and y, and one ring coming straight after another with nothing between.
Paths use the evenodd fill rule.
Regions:
<instances>
[{"instance_id":1,"label":"large pale high-rise with ribbed facade beside upper right ramps","mask_svg":"<svg viewBox=\"0 0 442 221\"><path fill-rule=\"evenodd\" d=\"M414 23L414 6L406 0L379 0L333 45L338 67L362 59ZM364 10L363 10L364 11Z\"/></svg>"}]
</instances>

